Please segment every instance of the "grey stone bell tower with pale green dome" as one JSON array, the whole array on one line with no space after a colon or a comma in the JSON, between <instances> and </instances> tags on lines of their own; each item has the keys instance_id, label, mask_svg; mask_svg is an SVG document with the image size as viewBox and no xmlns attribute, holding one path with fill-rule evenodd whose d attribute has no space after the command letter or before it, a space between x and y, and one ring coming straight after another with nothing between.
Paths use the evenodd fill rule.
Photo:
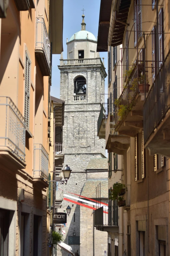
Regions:
<instances>
[{"instance_id":1,"label":"grey stone bell tower with pale green dome","mask_svg":"<svg viewBox=\"0 0 170 256\"><path fill-rule=\"evenodd\" d=\"M60 99L65 101L64 110L64 165L72 169L67 185L59 188L80 195L87 179L85 169L92 158L105 158L105 140L97 136L97 120L101 103L104 102L106 71L99 53L96 52L95 36L86 30L82 15L81 30L67 40L67 59L61 54L60 65ZM84 173L83 173L84 172ZM90 188L89 188L90 189ZM63 201L61 212L70 203ZM72 203L71 203L72 204ZM67 218L64 243L75 230L76 237L83 239L80 230L80 206L74 204ZM78 244L70 245L72 251L81 248ZM59 253L59 252L58 252ZM60 255L66 255L60 252Z\"/></svg>"}]
</instances>

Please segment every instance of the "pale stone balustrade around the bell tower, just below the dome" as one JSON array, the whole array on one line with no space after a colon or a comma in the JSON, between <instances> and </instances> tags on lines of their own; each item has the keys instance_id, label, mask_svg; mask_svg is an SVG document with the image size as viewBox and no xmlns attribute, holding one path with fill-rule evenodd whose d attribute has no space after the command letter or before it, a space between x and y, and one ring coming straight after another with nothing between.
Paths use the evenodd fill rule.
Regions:
<instances>
[{"instance_id":1,"label":"pale stone balustrade around the bell tower, just below the dome","mask_svg":"<svg viewBox=\"0 0 170 256\"><path fill-rule=\"evenodd\" d=\"M60 60L60 66L75 66L75 65L94 65L102 64L100 58L95 59L72 59L72 60Z\"/></svg>"}]
</instances>

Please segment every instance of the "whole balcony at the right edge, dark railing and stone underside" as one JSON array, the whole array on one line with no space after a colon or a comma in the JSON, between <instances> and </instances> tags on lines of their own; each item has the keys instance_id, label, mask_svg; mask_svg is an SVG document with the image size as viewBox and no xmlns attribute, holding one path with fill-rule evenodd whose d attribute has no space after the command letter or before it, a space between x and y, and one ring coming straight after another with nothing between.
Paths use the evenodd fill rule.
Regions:
<instances>
[{"instance_id":1,"label":"whole balcony at the right edge, dark railing and stone underside","mask_svg":"<svg viewBox=\"0 0 170 256\"><path fill-rule=\"evenodd\" d=\"M149 91L143 115L145 148L151 155L170 157L170 51Z\"/></svg>"}]
</instances>

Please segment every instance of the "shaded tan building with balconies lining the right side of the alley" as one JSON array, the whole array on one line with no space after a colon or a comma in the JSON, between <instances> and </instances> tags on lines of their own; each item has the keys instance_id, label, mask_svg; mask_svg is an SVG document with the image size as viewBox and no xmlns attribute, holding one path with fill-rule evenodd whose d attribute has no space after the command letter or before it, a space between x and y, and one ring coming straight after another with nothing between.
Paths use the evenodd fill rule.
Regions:
<instances>
[{"instance_id":1,"label":"shaded tan building with balconies lining the right side of the alley","mask_svg":"<svg viewBox=\"0 0 170 256\"><path fill-rule=\"evenodd\" d=\"M121 49L115 70L120 95L116 101L112 97L113 133L110 141L106 137L106 149L118 154L126 188L124 206L119 207L122 251L118 247L110 255L169 255L170 251L168 8L169 1L101 1L97 50ZM107 134L109 116L103 115L106 130L102 123L99 138L100 132Z\"/></svg>"}]
</instances>

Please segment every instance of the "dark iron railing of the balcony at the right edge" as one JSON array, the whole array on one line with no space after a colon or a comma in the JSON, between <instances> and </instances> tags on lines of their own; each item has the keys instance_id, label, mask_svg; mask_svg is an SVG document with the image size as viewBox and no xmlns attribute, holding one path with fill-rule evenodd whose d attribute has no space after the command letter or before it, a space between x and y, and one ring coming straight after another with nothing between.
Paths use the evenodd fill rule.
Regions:
<instances>
[{"instance_id":1,"label":"dark iron railing of the balcony at the right edge","mask_svg":"<svg viewBox=\"0 0 170 256\"><path fill-rule=\"evenodd\" d=\"M144 143L170 109L170 50L155 77L143 108ZM169 128L168 128L169 129Z\"/></svg>"}]
</instances>

